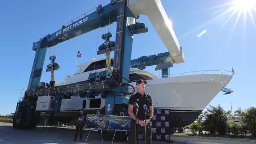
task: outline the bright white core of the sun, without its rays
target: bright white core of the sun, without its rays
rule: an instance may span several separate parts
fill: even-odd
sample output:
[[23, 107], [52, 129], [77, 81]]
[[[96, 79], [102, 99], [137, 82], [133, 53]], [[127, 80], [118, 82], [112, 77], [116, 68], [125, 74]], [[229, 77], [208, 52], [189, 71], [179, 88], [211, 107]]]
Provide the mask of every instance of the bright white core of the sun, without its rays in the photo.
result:
[[242, 11], [250, 11], [256, 9], [256, 0], [234, 0], [234, 7]]

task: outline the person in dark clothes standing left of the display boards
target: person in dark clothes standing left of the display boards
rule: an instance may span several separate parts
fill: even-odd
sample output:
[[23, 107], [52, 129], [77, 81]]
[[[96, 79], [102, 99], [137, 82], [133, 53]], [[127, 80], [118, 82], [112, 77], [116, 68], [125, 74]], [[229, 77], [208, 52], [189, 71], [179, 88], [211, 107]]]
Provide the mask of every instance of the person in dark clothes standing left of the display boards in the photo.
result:
[[83, 113], [83, 109], [79, 109], [80, 113], [76, 116], [76, 134], [73, 141], [76, 140], [78, 130], [80, 129], [80, 141], [82, 141], [83, 127], [85, 125], [85, 114]]

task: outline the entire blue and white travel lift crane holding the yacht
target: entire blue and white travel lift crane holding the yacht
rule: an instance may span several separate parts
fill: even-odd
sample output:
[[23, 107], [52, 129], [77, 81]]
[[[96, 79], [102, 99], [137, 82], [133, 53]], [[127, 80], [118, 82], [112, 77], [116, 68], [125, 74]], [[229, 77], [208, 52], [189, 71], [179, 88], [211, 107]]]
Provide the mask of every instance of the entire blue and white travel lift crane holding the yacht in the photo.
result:
[[[141, 5], [145, 7], [141, 8]], [[141, 11], [143, 8], [144, 10]], [[157, 12], [152, 13], [152, 11]], [[148, 16], [169, 52], [131, 60], [133, 35], [147, 32], [145, 24], [136, 22], [141, 14]], [[161, 2], [155, 0], [111, 0], [110, 4], [104, 7], [99, 5], [93, 13], [84, 15], [83, 18], [75, 22], [72, 21], [71, 24], [62, 26], [60, 30], [33, 42], [32, 50], [35, 51], [35, 58], [28, 89], [24, 98], [17, 103], [13, 127], [15, 129], [33, 129], [37, 126], [41, 114], [41, 111], [36, 110], [37, 105], [40, 104], [37, 101], [46, 95], [54, 96], [50, 99], [53, 107], [48, 110], [48, 113], [59, 113], [62, 99], [74, 95], [93, 98], [101, 94], [102, 98], [105, 98], [105, 114], [119, 114], [120, 111], [115, 111], [115, 108], [121, 107], [122, 109], [123, 106], [128, 105], [129, 99], [126, 95], [130, 94], [128, 92], [130, 67], [144, 69], [145, 66], [157, 65], [156, 70], [162, 69], [162, 75], [168, 75], [169, 68], [174, 63], [184, 62], [184, 54], [172, 27], [167, 25], [168, 20]], [[52, 56], [50, 57], [52, 63], [47, 66], [46, 70], [51, 71], [50, 85], [45, 87], [45, 83], [40, 82], [47, 48], [97, 28], [108, 26], [113, 22], [117, 22], [115, 42], [109, 41], [111, 33], [106, 33], [102, 35], [102, 39], [106, 41], [99, 46], [98, 50], [98, 54], [105, 53], [106, 57], [109, 57], [109, 53], [114, 51], [112, 70], [108, 68], [103, 72], [90, 74], [88, 81], [54, 87], [53, 73], [54, 70], [59, 69], [59, 65], [54, 62], [56, 57]], [[162, 30], [163, 28], [165, 30]]]

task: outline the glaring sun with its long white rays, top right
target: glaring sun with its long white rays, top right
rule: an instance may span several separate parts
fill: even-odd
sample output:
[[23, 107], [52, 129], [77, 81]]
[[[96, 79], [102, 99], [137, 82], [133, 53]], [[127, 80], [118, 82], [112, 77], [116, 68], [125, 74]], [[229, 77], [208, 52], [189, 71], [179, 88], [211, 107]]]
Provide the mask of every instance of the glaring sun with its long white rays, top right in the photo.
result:
[[[226, 24], [233, 18], [235, 18], [235, 21], [233, 22], [233, 26], [231, 26], [232, 32], [230, 34], [230, 38], [228, 39], [228, 43], [235, 31], [235, 28], [237, 26], [237, 23], [239, 22], [239, 18], [243, 17], [243, 29], [244, 29], [244, 33], [246, 31], [246, 25], [247, 25], [247, 16], [250, 17], [250, 20], [256, 30], [256, 20], [254, 19], [255, 13], [256, 13], [256, 0], [225, 0], [225, 1], [229, 1], [227, 3], [223, 3], [221, 5], [218, 6], [213, 6], [213, 7], [209, 7], [206, 9], [202, 9], [200, 11], [197, 11], [195, 13], [201, 13], [204, 11], [211, 11], [211, 10], [215, 10], [212, 14], [215, 13], [219, 13], [219, 15], [216, 15], [213, 18], [210, 18], [210, 20], [204, 22], [202, 25], [198, 26], [197, 28], [185, 33], [184, 35], [182, 35], [181, 37], [178, 37], [178, 39], [181, 39], [183, 37], [186, 37], [187, 35], [193, 33], [194, 31], [200, 30], [202, 28], [205, 28], [206, 26], [209, 26], [210, 24], [213, 24], [214, 22], [216, 22], [216, 20], [219, 19], [224, 19], [222, 24], [220, 24], [220, 28], [217, 29], [215, 31], [215, 33], [213, 34], [213, 37], [215, 37], [215, 35], [217, 35], [217, 33], [219, 33], [219, 31], [221, 31], [224, 26], [226, 26]], [[226, 9], [226, 10], [224, 10]], [[226, 17], [226, 18], [223, 18]], [[197, 37], [202, 36], [204, 33], [206, 32], [206, 29], [204, 31], [202, 31], [201, 33], [199, 33], [197, 35]], [[244, 34], [245, 37], [245, 34]], [[245, 38], [244, 38], [245, 39]]]

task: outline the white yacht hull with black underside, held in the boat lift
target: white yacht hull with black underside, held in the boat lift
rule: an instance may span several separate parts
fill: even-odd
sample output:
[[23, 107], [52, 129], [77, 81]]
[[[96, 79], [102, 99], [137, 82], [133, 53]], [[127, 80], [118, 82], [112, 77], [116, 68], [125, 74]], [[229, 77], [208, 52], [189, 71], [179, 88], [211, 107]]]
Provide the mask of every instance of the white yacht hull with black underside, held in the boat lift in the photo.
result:
[[[231, 78], [232, 76], [225, 74], [197, 74], [149, 79], [145, 92], [152, 97], [155, 110], [169, 110], [171, 127], [181, 127], [194, 122]], [[135, 82], [130, 84], [136, 86]], [[105, 100], [101, 99], [99, 104], [98, 108], [90, 108], [89, 100], [72, 96], [70, 99], [62, 100], [61, 113], [55, 116], [71, 120], [81, 107], [86, 113], [96, 113], [104, 107]]]

